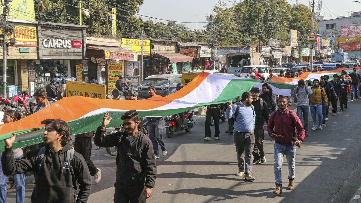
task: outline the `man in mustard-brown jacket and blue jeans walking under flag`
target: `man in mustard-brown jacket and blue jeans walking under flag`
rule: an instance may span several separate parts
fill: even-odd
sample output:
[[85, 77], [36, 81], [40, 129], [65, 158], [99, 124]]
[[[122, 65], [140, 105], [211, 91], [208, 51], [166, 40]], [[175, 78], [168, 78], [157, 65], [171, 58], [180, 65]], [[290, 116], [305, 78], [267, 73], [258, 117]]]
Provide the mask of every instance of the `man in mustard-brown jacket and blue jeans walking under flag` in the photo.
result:
[[318, 117], [318, 128], [322, 129], [322, 100], [325, 101], [325, 105], [329, 104], [325, 90], [319, 86], [319, 80], [313, 80], [313, 87], [311, 87], [312, 94], [310, 95], [310, 111], [312, 116], [313, 128], [317, 130], [317, 117]]

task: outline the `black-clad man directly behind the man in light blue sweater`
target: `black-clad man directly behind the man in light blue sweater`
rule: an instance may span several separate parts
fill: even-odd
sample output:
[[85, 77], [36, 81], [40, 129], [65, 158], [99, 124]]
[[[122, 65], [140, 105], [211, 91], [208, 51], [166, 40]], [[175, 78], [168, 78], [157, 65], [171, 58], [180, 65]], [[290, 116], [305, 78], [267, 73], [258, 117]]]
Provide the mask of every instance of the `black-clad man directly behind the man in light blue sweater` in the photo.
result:
[[265, 151], [263, 149], [262, 138], [265, 134], [265, 121], [268, 122], [270, 117], [268, 112], [267, 103], [259, 98], [260, 89], [258, 87], [253, 87], [251, 89], [252, 95], [252, 105], [255, 108], [256, 120], [255, 120], [255, 129], [253, 133], [255, 134], [255, 146], [253, 147], [253, 163], [254, 164], [264, 164], [266, 163]]

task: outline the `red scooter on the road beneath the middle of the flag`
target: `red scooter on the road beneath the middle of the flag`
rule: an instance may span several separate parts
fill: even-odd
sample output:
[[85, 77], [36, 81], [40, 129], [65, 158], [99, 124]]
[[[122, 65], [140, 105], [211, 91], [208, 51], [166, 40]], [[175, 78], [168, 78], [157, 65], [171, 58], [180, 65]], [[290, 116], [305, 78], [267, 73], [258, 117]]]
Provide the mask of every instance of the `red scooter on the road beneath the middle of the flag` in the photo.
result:
[[181, 125], [181, 116], [178, 114], [165, 116], [165, 134], [168, 138], [172, 138], [174, 132], [185, 130], [186, 132], [196, 126], [195, 119], [193, 119], [194, 109], [190, 109], [184, 113], [183, 127]]

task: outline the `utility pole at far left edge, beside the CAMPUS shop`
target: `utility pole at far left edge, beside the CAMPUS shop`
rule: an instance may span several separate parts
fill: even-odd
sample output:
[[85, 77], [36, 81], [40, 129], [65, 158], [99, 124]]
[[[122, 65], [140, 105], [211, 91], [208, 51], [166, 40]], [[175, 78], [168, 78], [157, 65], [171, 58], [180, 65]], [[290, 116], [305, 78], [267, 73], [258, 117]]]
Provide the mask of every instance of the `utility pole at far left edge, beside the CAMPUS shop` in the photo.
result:
[[8, 33], [8, 3], [4, 1], [4, 12], [3, 12], [3, 97], [6, 98], [6, 36]]

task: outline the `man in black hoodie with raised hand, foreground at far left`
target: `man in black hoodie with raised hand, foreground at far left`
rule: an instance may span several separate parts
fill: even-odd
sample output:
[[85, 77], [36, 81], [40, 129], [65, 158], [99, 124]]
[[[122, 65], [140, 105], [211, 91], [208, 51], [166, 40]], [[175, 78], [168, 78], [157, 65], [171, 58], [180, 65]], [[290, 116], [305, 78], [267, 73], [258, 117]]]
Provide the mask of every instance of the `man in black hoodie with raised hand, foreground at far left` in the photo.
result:
[[[14, 160], [12, 146], [16, 133], [5, 139], [5, 150], [1, 163], [5, 175], [14, 175], [32, 170], [36, 185], [31, 194], [31, 202], [85, 203], [90, 195], [91, 179], [89, 169], [82, 155], [74, 152], [73, 159], [68, 163], [66, 152], [70, 147], [70, 129], [60, 119], [46, 119], [40, 124], [45, 125], [43, 140], [45, 152], [39, 160], [39, 151], [31, 150], [24, 157]], [[72, 167], [69, 167], [69, 164]], [[78, 196], [75, 195], [73, 176], [79, 183]]]

